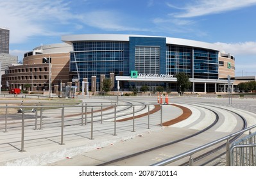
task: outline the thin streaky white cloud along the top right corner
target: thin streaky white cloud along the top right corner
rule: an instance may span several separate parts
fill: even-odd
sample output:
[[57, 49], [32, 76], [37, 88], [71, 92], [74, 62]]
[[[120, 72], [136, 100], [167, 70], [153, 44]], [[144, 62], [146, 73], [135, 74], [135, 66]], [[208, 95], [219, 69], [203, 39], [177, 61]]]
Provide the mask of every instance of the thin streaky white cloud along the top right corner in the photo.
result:
[[185, 10], [182, 13], [171, 14], [176, 18], [198, 17], [213, 13], [222, 13], [230, 10], [244, 8], [256, 4], [256, 0], [200, 0], [193, 1], [191, 4], [186, 4], [183, 8], [178, 8], [172, 4], [167, 4], [171, 8]]

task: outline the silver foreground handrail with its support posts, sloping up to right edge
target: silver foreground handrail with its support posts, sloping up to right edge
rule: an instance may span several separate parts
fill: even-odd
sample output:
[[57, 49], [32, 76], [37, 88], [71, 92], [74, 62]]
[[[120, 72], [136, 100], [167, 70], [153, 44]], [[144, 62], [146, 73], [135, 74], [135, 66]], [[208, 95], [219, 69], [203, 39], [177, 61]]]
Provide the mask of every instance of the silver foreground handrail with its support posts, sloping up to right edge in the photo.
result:
[[[189, 150], [188, 152], [181, 153], [179, 155], [176, 155], [175, 157], [171, 157], [169, 159], [162, 160], [162, 161], [157, 162], [157, 163], [155, 163], [151, 166], [166, 166], [166, 165], [171, 164], [173, 162], [176, 162], [178, 160], [182, 160], [185, 157], [189, 158], [189, 160], [188, 160], [189, 166], [194, 166], [194, 158], [195, 158], [195, 157], [193, 157], [194, 155], [202, 152], [203, 150], [210, 149], [210, 147], [212, 147], [216, 144], [222, 144], [222, 143], [226, 143], [226, 165], [230, 166], [230, 153], [228, 152], [230, 150], [230, 139], [232, 139], [232, 137], [235, 137], [239, 134], [243, 134], [246, 131], [250, 132], [253, 128], [256, 128], [256, 125], [248, 127], [248, 128], [246, 128], [244, 130], [241, 130], [239, 132], [235, 132], [234, 134], [230, 134], [228, 136], [222, 137], [221, 139], [218, 139], [218, 140], [213, 141], [211, 143], [207, 143], [207, 144], [205, 144], [203, 146], [200, 146], [198, 148]], [[244, 147], [252, 147], [252, 146], [244, 146]]]

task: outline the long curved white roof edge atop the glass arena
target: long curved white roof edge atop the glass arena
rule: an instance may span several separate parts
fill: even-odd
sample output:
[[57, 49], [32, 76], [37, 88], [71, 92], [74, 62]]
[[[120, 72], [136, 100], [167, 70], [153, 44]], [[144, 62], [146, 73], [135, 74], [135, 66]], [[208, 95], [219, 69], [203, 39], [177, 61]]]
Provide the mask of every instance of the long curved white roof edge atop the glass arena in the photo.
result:
[[195, 40], [187, 40], [182, 38], [170, 38], [165, 36], [146, 36], [146, 35], [120, 35], [120, 34], [85, 34], [85, 35], [65, 35], [62, 36], [62, 41], [65, 43], [73, 43], [80, 41], [129, 41], [130, 36], [135, 37], [159, 37], [166, 38], [167, 44], [185, 45], [189, 47], [200, 47], [203, 49], [212, 49], [215, 51], [222, 51], [221, 45], [214, 43], [200, 42]]

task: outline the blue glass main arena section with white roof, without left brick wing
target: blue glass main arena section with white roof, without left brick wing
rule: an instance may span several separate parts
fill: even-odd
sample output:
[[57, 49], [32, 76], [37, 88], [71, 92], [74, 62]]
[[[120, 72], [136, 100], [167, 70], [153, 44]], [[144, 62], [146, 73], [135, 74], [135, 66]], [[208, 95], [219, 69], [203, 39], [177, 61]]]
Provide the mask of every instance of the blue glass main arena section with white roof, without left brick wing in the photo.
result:
[[62, 41], [73, 46], [72, 78], [80, 84], [89, 82], [91, 91], [98, 91], [104, 78], [112, 79], [115, 91], [143, 85], [150, 86], [151, 91], [157, 86], [177, 91], [175, 76], [185, 72], [192, 82], [191, 92], [225, 92], [228, 75], [231, 79], [235, 77], [235, 58], [213, 43], [103, 34], [62, 36]]

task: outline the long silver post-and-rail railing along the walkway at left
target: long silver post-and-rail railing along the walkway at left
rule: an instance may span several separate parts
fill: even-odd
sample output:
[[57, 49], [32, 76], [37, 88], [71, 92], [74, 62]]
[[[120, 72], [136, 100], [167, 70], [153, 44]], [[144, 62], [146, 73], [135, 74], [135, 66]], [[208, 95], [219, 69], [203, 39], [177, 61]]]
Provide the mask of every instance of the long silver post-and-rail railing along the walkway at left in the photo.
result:
[[[159, 126], [159, 123], [160, 123], [160, 126], [162, 126], [162, 105], [160, 105], [160, 114], [156, 114], [157, 118], [154, 119], [155, 123], [151, 123], [151, 121], [153, 119], [151, 119], [151, 117], [150, 117], [150, 120], [151, 120], [150, 121], [149, 116], [150, 116], [150, 107], [155, 107], [155, 105], [153, 105], [153, 104], [117, 105], [116, 103], [113, 104], [112, 102], [105, 102], [105, 103], [99, 102], [98, 104], [96, 104], [96, 102], [93, 102], [92, 104], [83, 103], [80, 105], [62, 104], [61, 106], [58, 106], [58, 108], [53, 107], [52, 105], [42, 105], [42, 104], [27, 105], [27, 106], [24, 106], [24, 105], [10, 106], [10, 105], [6, 104], [5, 106], [0, 106], [0, 109], [5, 110], [5, 114], [0, 115], [1, 118], [4, 117], [4, 128], [0, 128], [0, 130], [4, 129], [4, 132], [9, 132], [8, 130], [10, 128], [14, 128], [13, 121], [9, 122], [10, 114], [8, 114], [8, 110], [20, 109], [21, 120], [19, 117], [17, 117], [17, 114], [15, 114], [16, 120], [18, 121], [17, 123], [15, 123], [15, 128], [21, 128], [21, 141], [20, 141], [21, 142], [21, 150], [20, 150], [20, 152], [25, 152], [24, 141], [26, 141], [25, 140], [26, 131], [31, 132], [31, 127], [33, 127], [33, 126], [35, 127], [35, 128], [33, 128], [33, 130], [37, 130], [37, 131], [41, 130], [43, 127], [47, 128], [47, 123], [44, 122], [45, 121], [44, 118], [51, 118], [51, 122], [56, 123], [54, 125], [54, 127], [61, 128], [60, 133], [59, 133], [59, 136], [60, 136], [59, 144], [62, 145], [62, 144], [64, 144], [64, 136], [65, 136], [64, 129], [65, 129], [65, 127], [67, 127], [67, 125], [73, 125], [73, 126], [74, 125], [80, 125], [80, 126], [87, 125], [87, 126], [89, 126], [88, 123], [90, 123], [90, 127], [87, 127], [87, 130], [90, 128], [89, 129], [90, 130], [89, 139], [94, 139], [94, 132], [96, 130], [94, 128], [95, 119], [97, 118], [97, 121], [100, 121], [100, 123], [102, 124], [103, 116], [104, 116], [103, 111], [109, 111], [108, 118], [112, 118], [112, 122], [114, 124], [112, 125], [112, 127], [108, 128], [108, 129], [113, 130], [112, 135], [117, 136], [117, 117], [119, 117], [119, 116], [117, 116], [117, 107], [119, 107], [119, 108], [120, 107], [132, 107], [132, 113], [124, 112], [124, 113], [129, 113], [128, 115], [132, 115], [132, 130], [131, 130], [131, 132], [135, 132], [135, 126], [136, 126], [135, 113], [137, 113], [138, 111], [135, 111], [135, 107], [137, 107], [137, 108], [143, 107], [143, 109], [144, 109], [143, 113], [145, 116], [144, 123], [145, 123], [145, 121], [148, 121], [148, 124], [147, 124], [148, 128], [150, 125], [151, 126], [152, 125]], [[32, 108], [34, 109], [33, 111], [26, 110], [26, 109], [32, 109]], [[46, 109], [46, 110], [44, 110], [44, 109]], [[113, 109], [114, 109], [114, 113], [112, 111]], [[4, 110], [2, 110], [2, 111], [4, 111]], [[49, 112], [49, 111], [51, 111], [51, 112]], [[131, 109], [130, 109], [130, 111], [131, 111]], [[33, 114], [33, 113], [35, 113], [35, 114]], [[60, 115], [56, 116], [57, 113]], [[96, 113], [98, 114], [97, 117], [96, 117]], [[55, 116], [51, 117], [51, 114], [53, 114]], [[148, 116], [148, 118], [147, 118], [147, 116]], [[29, 119], [26, 119], [26, 118], [29, 118]], [[71, 120], [70, 118], [75, 118], [75, 120]], [[38, 119], [39, 119], [39, 124], [38, 124]], [[26, 123], [29, 123], [29, 125]], [[38, 128], [38, 125], [39, 125], [39, 128]], [[0, 124], [0, 126], [1, 126], [1, 124]], [[3, 123], [2, 123], [2, 126], [3, 126]], [[51, 125], [51, 127], [53, 127], [53, 125]], [[141, 128], [141, 126], [139, 128]], [[97, 130], [99, 131], [101, 129], [97, 128]], [[74, 131], [74, 134], [75, 133], [76, 133], [76, 131]], [[70, 135], [70, 134], [68, 134], [68, 135]], [[0, 136], [1, 136], [1, 134], [0, 134]], [[1, 143], [0, 143], [0, 145], [1, 145]]]

